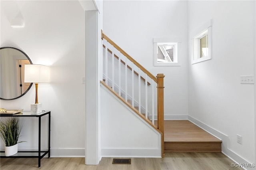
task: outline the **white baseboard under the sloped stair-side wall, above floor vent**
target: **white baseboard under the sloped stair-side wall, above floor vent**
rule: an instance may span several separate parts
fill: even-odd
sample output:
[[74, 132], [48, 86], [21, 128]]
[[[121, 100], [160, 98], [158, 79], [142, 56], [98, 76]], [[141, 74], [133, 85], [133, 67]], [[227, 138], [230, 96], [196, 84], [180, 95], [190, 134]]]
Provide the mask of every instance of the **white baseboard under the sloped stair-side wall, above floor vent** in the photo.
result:
[[102, 157], [162, 158], [161, 149], [102, 148]]

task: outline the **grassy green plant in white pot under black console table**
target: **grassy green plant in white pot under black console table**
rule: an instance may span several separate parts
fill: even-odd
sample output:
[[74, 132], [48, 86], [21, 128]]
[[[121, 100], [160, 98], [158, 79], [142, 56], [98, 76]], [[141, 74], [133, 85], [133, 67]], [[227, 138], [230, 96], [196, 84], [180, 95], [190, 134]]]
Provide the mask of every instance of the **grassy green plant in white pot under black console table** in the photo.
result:
[[12, 156], [18, 152], [18, 143], [20, 143], [18, 139], [22, 126], [18, 117], [8, 117], [0, 121], [0, 136], [5, 143], [5, 156]]

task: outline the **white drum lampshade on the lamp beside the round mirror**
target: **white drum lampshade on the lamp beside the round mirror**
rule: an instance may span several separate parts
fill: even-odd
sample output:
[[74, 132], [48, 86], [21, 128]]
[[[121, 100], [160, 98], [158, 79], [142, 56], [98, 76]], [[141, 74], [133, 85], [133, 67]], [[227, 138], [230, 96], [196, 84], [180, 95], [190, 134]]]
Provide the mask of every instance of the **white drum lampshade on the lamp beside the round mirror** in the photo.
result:
[[25, 83], [48, 83], [49, 72], [48, 66], [40, 64], [25, 64]]

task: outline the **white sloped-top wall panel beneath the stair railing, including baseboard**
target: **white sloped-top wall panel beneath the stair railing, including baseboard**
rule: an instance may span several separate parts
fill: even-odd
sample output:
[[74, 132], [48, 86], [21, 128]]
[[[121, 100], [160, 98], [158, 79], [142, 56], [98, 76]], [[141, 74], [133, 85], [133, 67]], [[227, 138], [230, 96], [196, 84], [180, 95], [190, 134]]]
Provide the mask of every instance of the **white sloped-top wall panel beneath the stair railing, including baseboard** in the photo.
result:
[[108, 89], [100, 90], [102, 157], [161, 158], [161, 134]]

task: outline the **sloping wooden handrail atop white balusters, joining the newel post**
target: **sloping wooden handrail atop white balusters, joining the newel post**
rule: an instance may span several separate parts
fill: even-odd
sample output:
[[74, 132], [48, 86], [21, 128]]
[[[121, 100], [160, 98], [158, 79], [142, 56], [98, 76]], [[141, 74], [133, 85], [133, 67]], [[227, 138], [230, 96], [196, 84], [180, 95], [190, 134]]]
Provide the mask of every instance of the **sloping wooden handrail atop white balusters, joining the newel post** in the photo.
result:
[[118, 51], [120, 51], [124, 56], [126, 56], [130, 61], [132, 61], [137, 67], [139, 67], [144, 73], [148, 75], [151, 79], [153, 79], [156, 83], [158, 83], [158, 79], [152, 75], [148, 70], [146, 70], [140, 63], [138, 63], [135, 59], [133, 59], [128, 53], [126, 53], [122, 48], [120, 48], [116, 43], [114, 43], [108, 36], [106, 36], [103, 32], [101, 32], [101, 38], [104, 38], [109, 42], [111, 45], [113, 45]]

